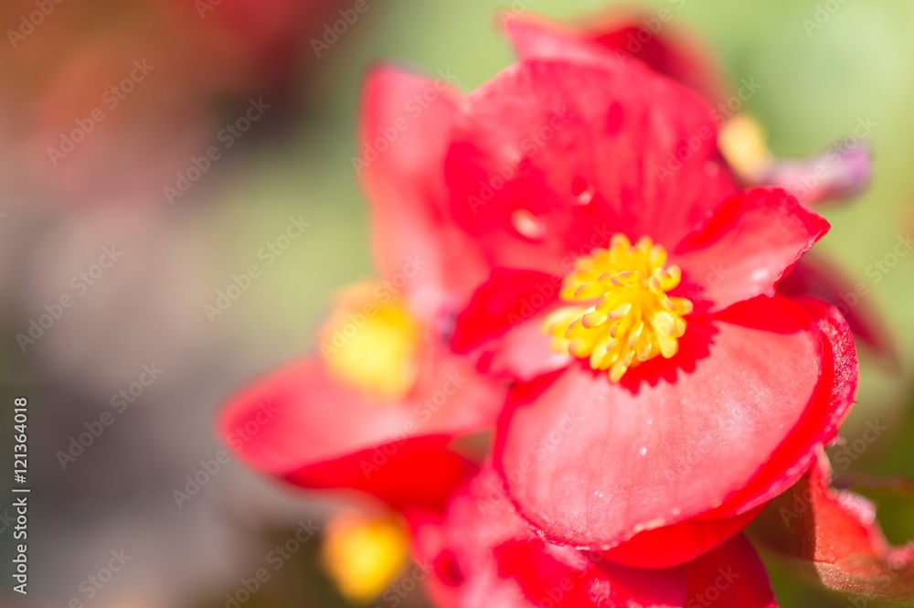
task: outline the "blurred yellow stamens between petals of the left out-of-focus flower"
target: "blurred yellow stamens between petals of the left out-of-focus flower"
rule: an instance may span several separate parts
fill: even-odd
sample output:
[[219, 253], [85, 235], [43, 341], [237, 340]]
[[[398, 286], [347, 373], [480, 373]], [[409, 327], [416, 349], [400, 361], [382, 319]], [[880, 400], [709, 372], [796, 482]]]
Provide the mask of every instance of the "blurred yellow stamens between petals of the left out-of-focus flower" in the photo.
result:
[[350, 288], [321, 331], [321, 354], [335, 379], [384, 399], [400, 399], [419, 373], [421, 328], [407, 304], [380, 284]]

